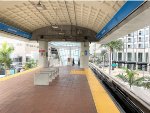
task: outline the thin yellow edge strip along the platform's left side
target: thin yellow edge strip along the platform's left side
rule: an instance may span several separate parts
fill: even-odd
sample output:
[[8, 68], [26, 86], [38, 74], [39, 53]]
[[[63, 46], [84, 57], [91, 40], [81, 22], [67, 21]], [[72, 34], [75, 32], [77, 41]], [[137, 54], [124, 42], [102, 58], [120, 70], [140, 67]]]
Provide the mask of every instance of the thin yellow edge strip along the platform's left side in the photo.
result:
[[29, 69], [29, 70], [26, 70], [26, 71], [23, 71], [23, 72], [20, 72], [20, 73], [16, 73], [16, 74], [13, 74], [13, 75], [9, 75], [9, 76], [0, 78], [0, 81], [5, 81], [5, 80], [8, 80], [8, 79], [17, 77], [17, 76], [21, 76], [21, 75], [23, 75], [23, 74], [27, 74], [27, 73], [29, 73], [29, 72], [35, 71], [35, 70], [40, 69], [40, 68], [41, 68], [41, 67], [36, 67], [36, 68], [32, 68], [32, 69]]

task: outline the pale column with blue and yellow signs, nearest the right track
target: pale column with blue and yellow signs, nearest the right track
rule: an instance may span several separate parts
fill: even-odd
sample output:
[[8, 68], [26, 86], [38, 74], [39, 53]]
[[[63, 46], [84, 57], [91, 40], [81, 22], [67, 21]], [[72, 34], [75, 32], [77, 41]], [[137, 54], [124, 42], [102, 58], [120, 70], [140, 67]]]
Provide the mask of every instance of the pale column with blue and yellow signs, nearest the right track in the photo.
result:
[[87, 68], [89, 64], [89, 42], [81, 42], [80, 68]]

